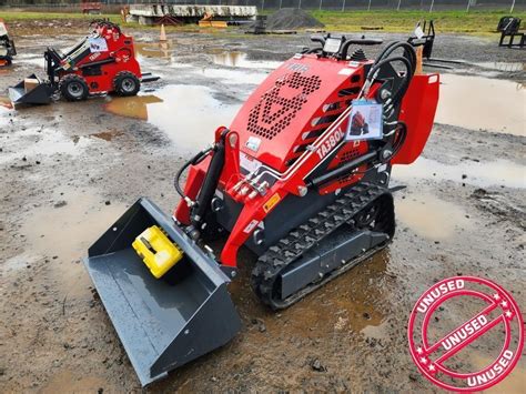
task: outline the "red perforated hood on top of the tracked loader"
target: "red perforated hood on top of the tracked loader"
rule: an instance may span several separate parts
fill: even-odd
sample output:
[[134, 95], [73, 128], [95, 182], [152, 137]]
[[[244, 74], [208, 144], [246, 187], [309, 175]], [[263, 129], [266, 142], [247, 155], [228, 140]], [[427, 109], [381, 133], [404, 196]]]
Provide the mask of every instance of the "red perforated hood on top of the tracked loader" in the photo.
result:
[[[355, 73], [361, 78], [351, 82]], [[300, 155], [297, 147], [305, 145], [304, 134], [324, 129], [326, 117], [344, 109], [331, 110], [326, 104], [355, 97], [363, 84], [362, 74], [363, 63], [315, 54], [290, 59], [252, 93], [232, 122], [230, 129], [240, 133], [241, 151], [277, 171], [286, 170], [287, 161]], [[338, 95], [352, 85], [356, 88], [343, 92], [348, 93], [346, 98]], [[256, 151], [246, 147], [251, 137], [261, 141]]]

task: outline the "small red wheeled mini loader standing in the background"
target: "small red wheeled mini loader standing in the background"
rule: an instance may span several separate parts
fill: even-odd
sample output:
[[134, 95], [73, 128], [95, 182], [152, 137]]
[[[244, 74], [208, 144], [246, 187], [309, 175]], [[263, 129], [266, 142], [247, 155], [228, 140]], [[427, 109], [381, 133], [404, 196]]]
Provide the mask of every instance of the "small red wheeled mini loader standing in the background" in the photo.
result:
[[122, 33], [118, 24], [97, 20], [91, 27], [92, 33], [67, 52], [48, 48], [44, 52], [48, 80], [31, 74], [9, 88], [13, 104], [49, 104], [60, 95], [68, 101], [101, 93], [135, 95], [141, 83], [159, 79], [141, 73], [133, 39]]

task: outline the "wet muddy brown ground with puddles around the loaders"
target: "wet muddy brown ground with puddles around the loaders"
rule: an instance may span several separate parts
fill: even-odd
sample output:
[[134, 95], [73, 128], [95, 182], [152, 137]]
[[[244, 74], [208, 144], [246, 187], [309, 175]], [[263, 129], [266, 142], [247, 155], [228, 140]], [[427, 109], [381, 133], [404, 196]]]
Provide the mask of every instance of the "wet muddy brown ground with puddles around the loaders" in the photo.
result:
[[[0, 95], [33, 70], [43, 75], [45, 46], [80, 37], [29, 36], [22, 24], [13, 32], [20, 55], [0, 71]], [[138, 196], [170, 212], [176, 169], [279, 61], [308, 44], [306, 34], [186, 32], [160, 46], [153, 32], [133, 33], [143, 69], [162, 77], [140, 98], [0, 107], [1, 392], [141, 391], [81, 257]], [[438, 58], [477, 63], [444, 75], [444, 95], [458, 98], [459, 83], [472, 100], [441, 102], [423, 158], [394, 170], [393, 184], [407, 189], [396, 193], [388, 249], [281, 313], [251, 292], [254, 257], [243, 252], [230, 289], [241, 333], [146, 392], [434, 392], [407, 348], [419, 294], [438, 280], [475, 275], [526, 307], [524, 52], [473, 37], [441, 36], [435, 47]], [[436, 332], [468, 309], [441, 311]], [[456, 367], [485, 366], [499, 341], [473, 345]], [[525, 367], [523, 357], [497, 391], [524, 392]]]

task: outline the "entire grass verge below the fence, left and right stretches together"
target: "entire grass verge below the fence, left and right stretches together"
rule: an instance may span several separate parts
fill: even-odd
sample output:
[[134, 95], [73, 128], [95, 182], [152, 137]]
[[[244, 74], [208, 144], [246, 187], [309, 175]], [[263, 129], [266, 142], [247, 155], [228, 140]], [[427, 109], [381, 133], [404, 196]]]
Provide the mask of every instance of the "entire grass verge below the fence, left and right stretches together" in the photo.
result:
[[[382, 27], [383, 31], [412, 32], [418, 20], [433, 19], [437, 33], [456, 32], [486, 36], [495, 32], [500, 17], [508, 14], [502, 11], [312, 11], [312, 14], [325, 24], [327, 31], [363, 31], [362, 27]], [[8, 23], [24, 20], [92, 20], [99, 16], [84, 16], [82, 13], [60, 12], [20, 12], [0, 11], [0, 18]], [[112, 22], [128, 28], [144, 28], [138, 23], [122, 23], [119, 14], [101, 16], [110, 18]], [[515, 17], [526, 20], [526, 12], [515, 12]], [[159, 29], [158, 27], [153, 27]], [[181, 28], [168, 28], [168, 30], [180, 30]], [[194, 30], [195, 26], [186, 26], [182, 29]]]

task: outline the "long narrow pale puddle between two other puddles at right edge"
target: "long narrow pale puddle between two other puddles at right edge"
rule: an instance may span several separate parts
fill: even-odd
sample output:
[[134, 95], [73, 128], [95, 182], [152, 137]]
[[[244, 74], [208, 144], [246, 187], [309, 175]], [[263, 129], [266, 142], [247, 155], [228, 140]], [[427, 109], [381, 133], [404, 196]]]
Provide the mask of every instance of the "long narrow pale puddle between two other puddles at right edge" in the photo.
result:
[[[463, 179], [463, 175], [466, 175]], [[508, 160], [490, 162], [463, 161], [448, 165], [435, 160], [419, 156], [411, 165], [395, 165], [393, 179], [411, 182], [414, 179], [433, 179], [454, 181], [486, 188], [504, 185], [506, 188], [526, 188], [526, 170]]]

